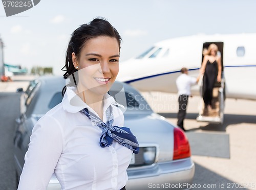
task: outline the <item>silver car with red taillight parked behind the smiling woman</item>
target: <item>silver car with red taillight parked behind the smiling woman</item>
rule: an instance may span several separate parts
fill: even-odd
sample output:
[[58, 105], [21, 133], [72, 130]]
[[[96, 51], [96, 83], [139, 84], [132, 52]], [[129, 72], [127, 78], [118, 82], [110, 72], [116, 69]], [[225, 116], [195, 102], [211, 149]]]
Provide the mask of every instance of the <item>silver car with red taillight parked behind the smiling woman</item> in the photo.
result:
[[[41, 77], [33, 80], [20, 96], [21, 114], [16, 119], [14, 135], [17, 180], [22, 172], [32, 128], [42, 115], [61, 102], [64, 85], [62, 77]], [[109, 93], [125, 105], [124, 126], [131, 128], [140, 144], [139, 154], [133, 154], [127, 169], [129, 181], [126, 189], [160, 189], [160, 185], [163, 189], [167, 186], [186, 189], [186, 185], [192, 183], [195, 165], [185, 133], [154, 113], [133, 87], [115, 82]], [[180, 184], [183, 184], [182, 188]], [[60, 189], [54, 174], [48, 189]]]

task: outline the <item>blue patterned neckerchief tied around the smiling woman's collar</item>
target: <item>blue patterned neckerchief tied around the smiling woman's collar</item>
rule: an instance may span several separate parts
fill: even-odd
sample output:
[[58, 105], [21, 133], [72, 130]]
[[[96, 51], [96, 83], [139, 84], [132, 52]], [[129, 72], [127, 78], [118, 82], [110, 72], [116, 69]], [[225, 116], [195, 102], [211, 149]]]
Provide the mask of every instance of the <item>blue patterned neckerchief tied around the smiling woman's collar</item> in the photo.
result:
[[112, 126], [114, 116], [111, 105], [106, 109], [106, 123], [104, 123], [95, 114], [91, 112], [89, 113], [88, 108], [83, 108], [80, 112], [86, 115], [93, 123], [102, 129], [99, 142], [99, 145], [102, 148], [111, 146], [113, 144], [113, 140], [115, 140], [126, 148], [133, 150], [133, 153], [138, 154], [139, 144], [130, 128]]

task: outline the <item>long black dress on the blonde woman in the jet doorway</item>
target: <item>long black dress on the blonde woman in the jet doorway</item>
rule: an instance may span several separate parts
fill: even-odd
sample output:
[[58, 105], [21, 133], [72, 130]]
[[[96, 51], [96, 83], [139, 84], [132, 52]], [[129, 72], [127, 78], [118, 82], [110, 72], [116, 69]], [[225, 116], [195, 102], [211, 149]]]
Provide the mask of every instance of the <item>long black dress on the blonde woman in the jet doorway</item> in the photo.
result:
[[204, 107], [211, 105], [212, 90], [214, 89], [214, 85], [217, 80], [217, 74], [218, 74], [217, 66], [218, 64], [216, 60], [212, 63], [208, 60], [205, 66], [205, 71], [203, 76]]

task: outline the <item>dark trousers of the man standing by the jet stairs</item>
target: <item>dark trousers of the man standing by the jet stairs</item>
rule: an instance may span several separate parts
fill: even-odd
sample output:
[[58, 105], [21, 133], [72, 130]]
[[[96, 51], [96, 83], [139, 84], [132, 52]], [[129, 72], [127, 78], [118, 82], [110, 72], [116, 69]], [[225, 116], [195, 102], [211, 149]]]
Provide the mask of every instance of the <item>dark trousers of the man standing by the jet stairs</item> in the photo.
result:
[[188, 95], [184, 95], [184, 94], [179, 96], [179, 112], [178, 112], [177, 125], [183, 130], [185, 130], [183, 126], [183, 120], [185, 119], [185, 116], [186, 116], [188, 97], [189, 97]]

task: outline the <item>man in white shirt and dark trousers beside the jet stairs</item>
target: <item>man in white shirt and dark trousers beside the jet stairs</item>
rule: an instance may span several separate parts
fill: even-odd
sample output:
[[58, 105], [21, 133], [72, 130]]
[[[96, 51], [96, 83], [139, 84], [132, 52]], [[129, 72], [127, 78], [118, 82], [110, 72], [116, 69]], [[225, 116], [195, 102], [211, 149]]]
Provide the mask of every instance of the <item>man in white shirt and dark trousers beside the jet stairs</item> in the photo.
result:
[[183, 67], [180, 71], [182, 74], [177, 78], [176, 85], [178, 88], [178, 101], [179, 101], [179, 112], [178, 112], [178, 122], [177, 125], [184, 131], [183, 121], [186, 116], [186, 108], [188, 97], [190, 96], [190, 88], [192, 85], [196, 85], [199, 80], [199, 76], [197, 78], [188, 76], [188, 69]]

